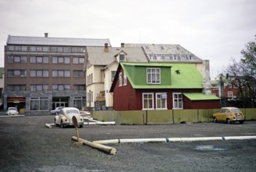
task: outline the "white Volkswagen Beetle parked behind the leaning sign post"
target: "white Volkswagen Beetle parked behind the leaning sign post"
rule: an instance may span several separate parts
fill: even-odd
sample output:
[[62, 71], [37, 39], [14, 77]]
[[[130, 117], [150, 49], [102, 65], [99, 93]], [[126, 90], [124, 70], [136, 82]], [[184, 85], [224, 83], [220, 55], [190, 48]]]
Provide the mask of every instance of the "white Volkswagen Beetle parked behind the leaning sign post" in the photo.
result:
[[80, 111], [74, 107], [65, 107], [61, 109], [58, 115], [54, 118], [54, 124], [59, 127], [74, 126], [72, 117], [75, 116], [78, 120], [78, 126], [83, 127], [84, 119], [80, 115]]

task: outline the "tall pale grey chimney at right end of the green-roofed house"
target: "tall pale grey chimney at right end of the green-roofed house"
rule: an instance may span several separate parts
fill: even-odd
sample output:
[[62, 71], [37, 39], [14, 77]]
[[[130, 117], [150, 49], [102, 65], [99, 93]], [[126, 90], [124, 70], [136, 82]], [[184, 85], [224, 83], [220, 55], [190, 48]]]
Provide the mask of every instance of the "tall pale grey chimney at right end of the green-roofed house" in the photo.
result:
[[210, 63], [209, 60], [203, 60], [203, 93], [211, 95], [211, 81], [210, 81]]

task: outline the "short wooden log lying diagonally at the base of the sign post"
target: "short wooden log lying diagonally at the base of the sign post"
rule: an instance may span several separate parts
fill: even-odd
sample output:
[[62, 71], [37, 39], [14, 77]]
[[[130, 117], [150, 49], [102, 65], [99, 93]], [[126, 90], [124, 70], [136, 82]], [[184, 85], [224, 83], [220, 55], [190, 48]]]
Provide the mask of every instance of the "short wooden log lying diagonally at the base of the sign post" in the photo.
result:
[[[78, 141], [78, 138], [75, 137], [75, 136], [72, 136], [71, 139], [74, 140], [74, 141]], [[106, 152], [106, 153], [108, 153], [110, 155], [114, 155], [114, 154], [117, 153], [117, 149], [114, 149], [114, 148], [112, 148], [110, 146], [100, 145], [99, 143], [89, 142], [89, 141], [87, 141], [85, 139], [82, 139], [82, 138], [79, 138], [79, 141], [83, 142], [85, 145], [88, 145], [88, 146], [90, 146], [90, 147], [92, 147], [94, 149], [98, 149], [100, 151]]]

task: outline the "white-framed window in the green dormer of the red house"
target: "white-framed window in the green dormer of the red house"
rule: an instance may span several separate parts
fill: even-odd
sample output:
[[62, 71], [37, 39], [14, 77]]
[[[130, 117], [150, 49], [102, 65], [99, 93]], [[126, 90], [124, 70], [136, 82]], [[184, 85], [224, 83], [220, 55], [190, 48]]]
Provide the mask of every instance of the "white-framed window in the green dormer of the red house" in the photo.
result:
[[146, 68], [146, 83], [160, 84], [160, 68]]

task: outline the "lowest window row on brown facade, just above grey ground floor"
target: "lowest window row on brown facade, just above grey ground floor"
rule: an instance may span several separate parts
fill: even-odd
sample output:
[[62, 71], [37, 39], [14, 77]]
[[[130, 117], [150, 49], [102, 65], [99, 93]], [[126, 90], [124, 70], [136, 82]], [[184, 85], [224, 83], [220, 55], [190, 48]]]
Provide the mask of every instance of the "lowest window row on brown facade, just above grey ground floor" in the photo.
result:
[[[31, 84], [30, 91], [49, 91], [47, 84]], [[9, 84], [8, 91], [26, 91], [25, 84]], [[52, 84], [52, 91], [70, 91], [69, 84]], [[74, 84], [74, 91], [85, 91], [85, 84]]]

